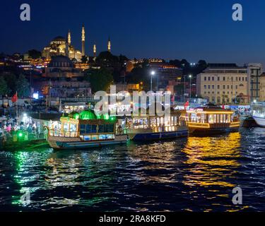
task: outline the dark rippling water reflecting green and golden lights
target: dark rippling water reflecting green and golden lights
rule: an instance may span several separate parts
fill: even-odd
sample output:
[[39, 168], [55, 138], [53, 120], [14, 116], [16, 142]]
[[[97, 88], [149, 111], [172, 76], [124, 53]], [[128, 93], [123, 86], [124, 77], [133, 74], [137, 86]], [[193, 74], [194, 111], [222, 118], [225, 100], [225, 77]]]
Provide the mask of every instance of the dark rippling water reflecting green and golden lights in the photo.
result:
[[[0, 210], [264, 211], [265, 129], [54, 152], [0, 152]], [[232, 204], [240, 185], [243, 205]], [[21, 201], [26, 192], [30, 202]]]

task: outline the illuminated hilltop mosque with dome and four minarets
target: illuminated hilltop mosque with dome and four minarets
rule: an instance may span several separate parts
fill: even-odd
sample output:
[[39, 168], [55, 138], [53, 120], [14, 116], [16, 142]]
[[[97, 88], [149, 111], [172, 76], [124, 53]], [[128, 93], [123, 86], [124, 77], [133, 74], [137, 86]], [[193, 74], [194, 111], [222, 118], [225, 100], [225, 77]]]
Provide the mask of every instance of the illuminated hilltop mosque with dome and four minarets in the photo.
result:
[[[70, 59], [76, 59], [76, 61], [81, 61], [82, 57], [86, 55], [85, 52], [85, 39], [86, 39], [86, 33], [85, 33], [85, 27], [82, 26], [82, 50], [78, 50], [71, 44], [71, 32], [69, 30], [67, 38], [58, 36], [55, 37], [52, 42], [50, 42], [49, 46], [45, 47], [42, 50], [42, 57], [45, 57], [46, 59], [51, 59], [54, 56], [66, 56]], [[110, 38], [107, 42], [107, 50], [110, 52], [111, 50], [111, 43]], [[93, 46], [93, 56], [96, 56], [96, 45]]]

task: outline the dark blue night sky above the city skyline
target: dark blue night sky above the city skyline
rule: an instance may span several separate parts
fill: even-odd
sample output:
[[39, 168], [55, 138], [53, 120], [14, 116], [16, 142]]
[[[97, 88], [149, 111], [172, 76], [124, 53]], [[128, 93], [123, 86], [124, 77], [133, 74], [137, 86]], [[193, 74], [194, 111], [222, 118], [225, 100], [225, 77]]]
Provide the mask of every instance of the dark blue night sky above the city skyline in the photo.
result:
[[[20, 20], [20, 4], [31, 6], [31, 21]], [[243, 6], [243, 21], [232, 20], [232, 4]], [[1, 0], [0, 52], [45, 47], [72, 32], [81, 49], [98, 52], [112, 40], [113, 54], [208, 62], [265, 63], [264, 0]]]

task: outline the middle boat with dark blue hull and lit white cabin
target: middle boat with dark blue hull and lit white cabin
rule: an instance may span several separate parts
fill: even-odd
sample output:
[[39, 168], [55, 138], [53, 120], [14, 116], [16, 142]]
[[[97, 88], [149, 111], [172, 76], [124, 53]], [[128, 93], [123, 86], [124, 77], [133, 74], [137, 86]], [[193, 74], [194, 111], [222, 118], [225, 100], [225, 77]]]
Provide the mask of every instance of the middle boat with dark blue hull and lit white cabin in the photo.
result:
[[159, 141], [181, 138], [189, 135], [186, 121], [181, 119], [181, 113], [171, 112], [170, 116], [134, 116], [126, 118], [126, 129], [132, 141]]

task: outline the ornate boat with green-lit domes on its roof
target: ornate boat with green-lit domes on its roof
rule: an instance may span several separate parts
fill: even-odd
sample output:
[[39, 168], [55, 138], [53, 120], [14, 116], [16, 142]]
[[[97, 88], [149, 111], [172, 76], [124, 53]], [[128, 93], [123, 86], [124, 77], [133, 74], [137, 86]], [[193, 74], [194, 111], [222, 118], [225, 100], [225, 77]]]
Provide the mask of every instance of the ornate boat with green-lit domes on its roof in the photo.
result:
[[126, 143], [128, 136], [116, 117], [97, 117], [93, 110], [73, 112], [52, 122], [47, 141], [54, 149], [86, 149]]

